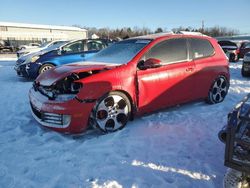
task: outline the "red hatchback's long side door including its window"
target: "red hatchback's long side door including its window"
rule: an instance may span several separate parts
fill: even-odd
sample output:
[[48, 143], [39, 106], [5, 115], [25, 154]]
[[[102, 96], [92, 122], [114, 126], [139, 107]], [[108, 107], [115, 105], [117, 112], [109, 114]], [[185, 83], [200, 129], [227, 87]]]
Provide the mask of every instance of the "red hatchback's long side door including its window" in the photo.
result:
[[192, 96], [195, 66], [189, 61], [187, 39], [168, 39], [143, 57], [161, 61], [161, 67], [137, 70], [138, 106], [142, 113], [184, 102]]

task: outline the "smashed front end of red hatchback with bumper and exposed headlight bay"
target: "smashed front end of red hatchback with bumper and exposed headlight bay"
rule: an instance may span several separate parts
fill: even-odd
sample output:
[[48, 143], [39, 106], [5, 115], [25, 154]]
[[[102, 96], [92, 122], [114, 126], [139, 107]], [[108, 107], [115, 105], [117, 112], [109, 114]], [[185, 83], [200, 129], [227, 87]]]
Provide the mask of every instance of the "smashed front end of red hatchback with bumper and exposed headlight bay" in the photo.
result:
[[[84, 88], [81, 79], [94, 73], [96, 72], [69, 73], [66, 77], [49, 86], [41, 85], [39, 80], [34, 81], [33, 88], [30, 90], [33, 117], [45, 127], [80, 132], [83, 127], [87, 126], [86, 123], [82, 128], [79, 126], [84, 121], [87, 122], [84, 113], [88, 114], [92, 107], [90, 103], [81, 103], [77, 98], [77, 94]], [[78, 111], [78, 109], [82, 109], [82, 111]], [[68, 129], [69, 127], [70, 129]]]

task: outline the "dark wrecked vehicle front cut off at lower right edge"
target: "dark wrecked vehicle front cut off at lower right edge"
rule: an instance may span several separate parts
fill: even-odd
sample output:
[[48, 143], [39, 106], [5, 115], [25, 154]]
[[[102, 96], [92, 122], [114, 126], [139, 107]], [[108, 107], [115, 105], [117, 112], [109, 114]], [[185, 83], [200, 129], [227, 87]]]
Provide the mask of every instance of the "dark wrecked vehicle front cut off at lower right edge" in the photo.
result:
[[225, 165], [250, 174], [250, 96], [245, 97], [228, 116], [228, 125], [220, 134], [225, 141]]

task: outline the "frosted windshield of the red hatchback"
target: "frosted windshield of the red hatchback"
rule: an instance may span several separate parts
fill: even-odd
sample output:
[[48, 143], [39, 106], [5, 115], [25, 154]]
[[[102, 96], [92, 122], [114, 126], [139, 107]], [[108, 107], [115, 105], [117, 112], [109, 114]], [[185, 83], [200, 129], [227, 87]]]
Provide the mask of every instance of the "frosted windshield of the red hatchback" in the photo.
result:
[[152, 40], [148, 39], [128, 39], [117, 42], [101, 50], [94, 56], [88, 58], [88, 61], [105, 62], [114, 64], [128, 63], [135, 55]]

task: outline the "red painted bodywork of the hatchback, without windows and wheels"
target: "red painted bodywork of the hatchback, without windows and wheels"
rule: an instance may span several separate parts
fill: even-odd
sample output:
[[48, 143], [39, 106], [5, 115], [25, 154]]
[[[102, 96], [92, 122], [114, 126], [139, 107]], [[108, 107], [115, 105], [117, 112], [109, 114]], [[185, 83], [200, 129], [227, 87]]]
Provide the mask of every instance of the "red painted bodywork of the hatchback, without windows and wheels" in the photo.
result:
[[[100, 70], [97, 74], [77, 80], [76, 82], [83, 84], [83, 88], [80, 89], [77, 98], [66, 102], [50, 100], [31, 88], [29, 98], [32, 107], [39, 112], [70, 115], [71, 120], [67, 127], [52, 127], [52, 129], [60, 132], [79, 133], [88, 127], [89, 117], [96, 101], [110, 91], [125, 93], [132, 103], [132, 113], [136, 116], [188, 101], [205, 99], [211, 84], [219, 75], [223, 75], [229, 80], [228, 61], [217, 41], [211, 37], [166, 34], [164, 36], [144, 36], [144, 38], [152, 39], [152, 41], [126, 64], [120, 66], [107, 66], [99, 63], [71, 64], [43, 73], [35, 82], [42, 86], [51, 86], [72, 73]], [[214, 53], [209, 57], [189, 59], [158, 68], [146, 70], [137, 68], [138, 62], [153, 46], [176, 38], [208, 40], [214, 48]]]

